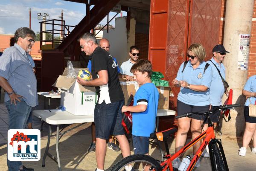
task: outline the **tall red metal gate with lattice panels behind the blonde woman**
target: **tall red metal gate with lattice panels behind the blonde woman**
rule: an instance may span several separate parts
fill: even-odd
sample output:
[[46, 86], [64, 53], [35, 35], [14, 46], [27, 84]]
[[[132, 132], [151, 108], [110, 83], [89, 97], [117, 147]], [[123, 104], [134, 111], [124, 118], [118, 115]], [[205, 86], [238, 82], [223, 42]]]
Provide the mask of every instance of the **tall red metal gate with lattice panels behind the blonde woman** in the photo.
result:
[[[189, 17], [190, 12], [190, 17]], [[173, 97], [170, 109], [176, 110], [177, 94], [172, 80], [183, 61], [190, 43], [201, 43], [212, 57], [218, 43], [221, 0], [151, 0], [148, 59], [154, 71], [168, 80]]]

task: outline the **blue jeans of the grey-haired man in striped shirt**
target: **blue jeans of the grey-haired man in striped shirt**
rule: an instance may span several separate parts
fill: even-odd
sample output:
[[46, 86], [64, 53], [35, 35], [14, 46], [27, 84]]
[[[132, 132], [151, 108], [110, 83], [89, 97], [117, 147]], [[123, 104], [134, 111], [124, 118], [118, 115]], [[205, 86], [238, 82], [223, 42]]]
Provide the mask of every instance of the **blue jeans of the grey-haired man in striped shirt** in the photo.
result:
[[[11, 104], [11, 101], [5, 102], [9, 115], [9, 129], [24, 129], [26, 121], [31, 111], [31, 106], [20, 98], [20, 101], [16, 101], [16, 105]], [[9, 171], [18, 171], [22, 165], [21, 161], [9, 161], [7, 159], [7, 166]]]

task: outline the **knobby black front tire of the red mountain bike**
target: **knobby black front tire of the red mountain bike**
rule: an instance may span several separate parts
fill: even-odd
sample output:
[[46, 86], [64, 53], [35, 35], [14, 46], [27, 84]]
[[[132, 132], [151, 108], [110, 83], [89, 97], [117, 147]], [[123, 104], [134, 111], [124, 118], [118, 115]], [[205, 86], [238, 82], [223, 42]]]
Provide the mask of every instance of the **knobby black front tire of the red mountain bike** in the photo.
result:
[[213, 157], [215, 159], [213, 159], [214, 163], [215, 163], [215, 171], [227, 171], [223, 158], [221, 156], [221, 151], [218, 148], [217, 143], [212, 144], [212, 153], [213, 153]]

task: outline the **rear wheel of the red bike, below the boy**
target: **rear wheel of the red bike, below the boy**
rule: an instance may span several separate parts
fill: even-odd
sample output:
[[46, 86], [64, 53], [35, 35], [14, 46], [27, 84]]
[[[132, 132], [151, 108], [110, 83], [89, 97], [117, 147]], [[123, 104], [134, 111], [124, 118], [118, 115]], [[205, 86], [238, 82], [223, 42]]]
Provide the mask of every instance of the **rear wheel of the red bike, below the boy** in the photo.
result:
[[131, 171], [144, 171], [147, 167], [150, 171], [161, 171], [161, 166], [157, 160], [145, 154], [125, 157], [117, 162], [110, 171], [126, 171], [125, 166], [129, 167]]

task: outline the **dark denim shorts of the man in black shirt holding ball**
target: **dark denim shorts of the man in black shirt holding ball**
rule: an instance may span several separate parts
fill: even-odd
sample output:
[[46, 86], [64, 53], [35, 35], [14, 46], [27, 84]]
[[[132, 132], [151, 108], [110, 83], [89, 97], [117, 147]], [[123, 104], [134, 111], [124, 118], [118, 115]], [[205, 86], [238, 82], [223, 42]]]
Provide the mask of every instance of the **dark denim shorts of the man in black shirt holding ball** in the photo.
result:
[[94, 123], [96, 138], [108, 139], [110, 135], [124, 135], [122, 127], [122, 106], [124, 100], [106, 104], [96, 104], [94, 108]]

